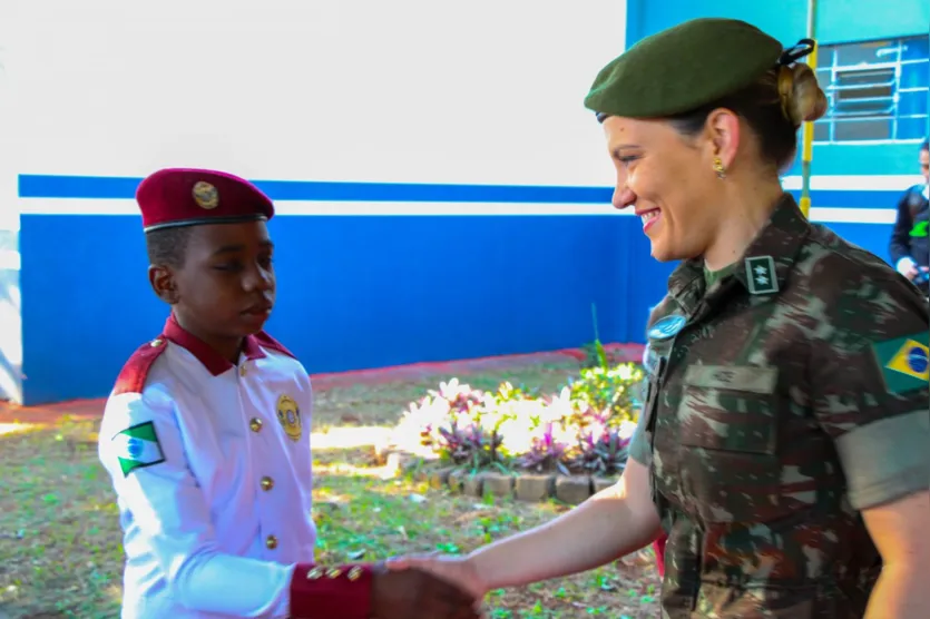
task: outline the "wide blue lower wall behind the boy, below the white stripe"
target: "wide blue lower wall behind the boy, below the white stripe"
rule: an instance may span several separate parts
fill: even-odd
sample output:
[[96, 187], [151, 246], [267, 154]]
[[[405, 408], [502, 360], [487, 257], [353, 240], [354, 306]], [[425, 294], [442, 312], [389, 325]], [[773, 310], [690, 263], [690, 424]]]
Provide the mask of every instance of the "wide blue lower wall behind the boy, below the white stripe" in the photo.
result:
[[[578, 346], [593, 303], [606, 340], [627, 338], [616, 308], [644, 320], [617, 256], [643, 246], [634, 217], [282, 216], [271, 229], [268, 330], [311, 372]], [[167, 314], [138, 218], [25, 215], [20, 250], [27, 404], [105, 395]], [[659, 298], [664, 282], [644, 275]]]

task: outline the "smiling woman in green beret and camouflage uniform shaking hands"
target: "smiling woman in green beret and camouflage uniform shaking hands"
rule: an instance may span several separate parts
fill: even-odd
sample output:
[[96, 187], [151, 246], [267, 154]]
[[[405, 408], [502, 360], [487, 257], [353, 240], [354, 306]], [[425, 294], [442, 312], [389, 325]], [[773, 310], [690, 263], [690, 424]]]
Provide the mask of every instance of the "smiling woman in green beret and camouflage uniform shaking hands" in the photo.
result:
[[608, 563], [664, 532], [664, 617], [930, 617], [928, 313], [780, 186], [826, 101], [735, 20], [649, 37], [586, 106], [659, 261], [648, 397], [620, 481], [467, 557], [410, 557], [477, 596]]

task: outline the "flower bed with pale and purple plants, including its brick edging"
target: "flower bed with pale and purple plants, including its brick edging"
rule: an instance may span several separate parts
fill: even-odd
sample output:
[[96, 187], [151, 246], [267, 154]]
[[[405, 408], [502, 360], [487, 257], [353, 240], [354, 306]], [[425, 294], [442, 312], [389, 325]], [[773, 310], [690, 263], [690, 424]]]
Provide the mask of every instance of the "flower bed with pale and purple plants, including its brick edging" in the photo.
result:
[[600, 360], [555, 394], [441, 383], [411, 403], [390, 451], [435, 485], [580, 502], [624, 470], [640, 404], [639, 366]]

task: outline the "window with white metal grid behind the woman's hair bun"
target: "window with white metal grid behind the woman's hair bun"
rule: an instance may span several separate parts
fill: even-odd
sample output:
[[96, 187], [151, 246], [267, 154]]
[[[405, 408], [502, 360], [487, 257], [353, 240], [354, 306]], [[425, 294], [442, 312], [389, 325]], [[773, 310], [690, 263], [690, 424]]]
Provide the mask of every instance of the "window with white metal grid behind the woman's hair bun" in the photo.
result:
[[818, 80], [830, 108], [814, 124], [814, 141], [905, 141], [927, 136], [927, 35], [819, 47]]

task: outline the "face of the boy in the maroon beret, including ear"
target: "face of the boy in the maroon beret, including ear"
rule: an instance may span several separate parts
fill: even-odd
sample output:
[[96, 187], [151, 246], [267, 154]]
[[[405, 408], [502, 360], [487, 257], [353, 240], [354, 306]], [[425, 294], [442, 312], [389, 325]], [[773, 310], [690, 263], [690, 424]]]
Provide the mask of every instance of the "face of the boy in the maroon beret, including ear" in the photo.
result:
[[272, 253], [264, 222], [194, 226], [183, 266], [153, 266], [149, 279], [182, 326], [216, 346], [257, 333], [268, 320]]

